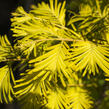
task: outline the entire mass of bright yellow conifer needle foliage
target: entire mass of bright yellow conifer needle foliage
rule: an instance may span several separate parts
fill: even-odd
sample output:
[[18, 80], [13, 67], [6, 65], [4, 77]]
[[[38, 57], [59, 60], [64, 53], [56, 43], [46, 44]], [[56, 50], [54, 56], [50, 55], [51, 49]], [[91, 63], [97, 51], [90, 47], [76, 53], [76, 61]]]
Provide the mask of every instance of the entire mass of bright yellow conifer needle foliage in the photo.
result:
[[[83, 3], [69, 21], [65, 6], [49, 0], [28, 13], [22, 7], [12, 13], [16, 44], [0, 37], [0, 62], [5, 63], [0, 67], [1, 102], [14, 96], [22, 109], [93, 108], [90, 77], [101, 72], [104, 80], [109, 77], [108, 6], [101, 10], [99, 0], [93, 9]], [[14, 61], [20, 69], [27, 67], [16, 81]]]

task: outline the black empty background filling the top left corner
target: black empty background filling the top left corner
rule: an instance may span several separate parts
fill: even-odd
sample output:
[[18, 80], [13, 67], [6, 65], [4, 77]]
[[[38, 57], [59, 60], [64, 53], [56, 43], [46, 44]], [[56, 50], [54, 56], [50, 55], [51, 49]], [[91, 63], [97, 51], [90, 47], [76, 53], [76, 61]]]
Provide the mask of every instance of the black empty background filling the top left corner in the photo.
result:
[[29, 10], [29, 6], [33, 0], [0, 0], [0, 34], [10, 34], [10, 17], [17, 6], [22, 5], [25, 10]]

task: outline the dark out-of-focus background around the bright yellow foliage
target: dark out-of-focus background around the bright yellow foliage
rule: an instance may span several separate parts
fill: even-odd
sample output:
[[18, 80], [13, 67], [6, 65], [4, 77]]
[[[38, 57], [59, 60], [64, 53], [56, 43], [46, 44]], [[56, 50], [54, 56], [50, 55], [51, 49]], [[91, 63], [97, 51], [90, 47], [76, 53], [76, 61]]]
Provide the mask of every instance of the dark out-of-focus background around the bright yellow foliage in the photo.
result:
[[[46, 3], [49, 2], [49, 0], [43, 1]], [[99, 1], [101, 3], [102, 10], [105, 5], [109, 4], [109, 0]], [[40, 2], [42, 2], [42, 0], [0, 0], [0, 34], [7, 34], [12, 42], [12, 32], [10, 31], [11, 22], [9, 20], [11, 18], [11, 13], [15, 11], [17, 6], [23, 6], [26, 11], [29, 11], [31, 4], [37, 5]], [[93, 8], [95, 0], [66, 0], [66, 3], [67, 20], [73, 14], [73, 12], [79, 12], [81, 4], [89, 4]], [[83, 78], [83, 80], [86, 79], [87, 78]], [[88, 80], [85, 82], [89, 82], [88, 89], [92, 91], [92, 96], [95, 101], [93, 109], [109, 109], [109, 82], [104, 81], [102, 72], [100, 72], [99, 75], [92, 76], [90, 81]], [[16, 103], [14, 103], [14, 105], [1, 104], [0, 109], [19, 109], [19, 107], [16, 105]]]

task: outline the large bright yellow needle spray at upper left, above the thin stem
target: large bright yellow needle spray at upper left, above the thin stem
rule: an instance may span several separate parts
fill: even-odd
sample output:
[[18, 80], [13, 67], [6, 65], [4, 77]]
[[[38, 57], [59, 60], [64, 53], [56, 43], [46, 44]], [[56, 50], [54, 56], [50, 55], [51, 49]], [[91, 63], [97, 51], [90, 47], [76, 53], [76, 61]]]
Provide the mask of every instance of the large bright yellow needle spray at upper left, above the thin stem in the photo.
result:
[[[68, 34], [64, 30], [65, 2], [58, 5], [56, 0], [54, 7], [53, 0], [50, 0], [50, 6], [42, 3], [38, 7], [34, 7], [29, 13], [26, 13], [22, 7], [19, 7], [16, 13], [13, 13], [13, 16], [11, 20], [13, 22], [12, 26], [14, 26], [12, 30], [16, 33], [15, 36], [26, 36], [26, 38], [40, 37], [41, 39], [42, 36], [56, 37], [58, 35], [59, 37], [63, 32]], [[62, 34], [63, 37], [65, 36], [64, 33]]]

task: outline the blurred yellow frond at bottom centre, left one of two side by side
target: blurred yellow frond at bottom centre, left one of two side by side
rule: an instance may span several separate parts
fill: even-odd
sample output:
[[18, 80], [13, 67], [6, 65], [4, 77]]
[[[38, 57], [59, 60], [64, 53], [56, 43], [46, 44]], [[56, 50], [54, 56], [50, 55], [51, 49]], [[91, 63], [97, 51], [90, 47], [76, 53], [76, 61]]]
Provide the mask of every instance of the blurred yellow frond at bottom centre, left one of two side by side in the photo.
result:
[[56, 90], [51, 90], [50, 94], [47, 96], [48, 109], [69, 109], [68, 99], [63, 93], [62, 89], [57, 88]]

